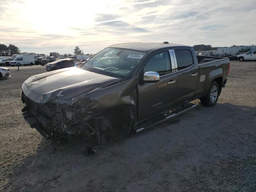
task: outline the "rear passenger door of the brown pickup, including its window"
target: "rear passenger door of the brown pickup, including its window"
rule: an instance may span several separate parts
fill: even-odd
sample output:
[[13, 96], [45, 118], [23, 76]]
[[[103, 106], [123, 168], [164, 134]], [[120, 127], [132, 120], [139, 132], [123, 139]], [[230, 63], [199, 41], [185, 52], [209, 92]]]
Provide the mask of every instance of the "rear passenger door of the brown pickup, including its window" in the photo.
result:
[[[174, 48], [177, 63], [177, 105], [190, 102], [194, 97], [199, 69], [189, 48]], [[175, 57], [174, 57], [175, 58]]]

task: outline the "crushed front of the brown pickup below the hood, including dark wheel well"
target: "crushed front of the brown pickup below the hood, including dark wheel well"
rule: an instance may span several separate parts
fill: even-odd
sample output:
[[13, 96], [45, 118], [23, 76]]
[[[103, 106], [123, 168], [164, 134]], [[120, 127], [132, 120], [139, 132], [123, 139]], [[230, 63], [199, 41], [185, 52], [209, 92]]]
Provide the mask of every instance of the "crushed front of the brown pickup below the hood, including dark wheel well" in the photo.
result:
[[[129, 110], [119, 108], [98, 112], [98, 102], [90, 98], [80, 99], [74, 105], [41, 104], [32, 101], [22, 92], [22, 102], [26, 104], [22, 109], [26, 122], [44, 138], [53, 141], [84, 136], [91, 144], [104, 143], [114, 134], [128, 136], [133, 127], [124, 119], [124, 113], [127, 113], [125, 117], [131, 114]], [[116, 127], [119, 127], [119, 132]]]

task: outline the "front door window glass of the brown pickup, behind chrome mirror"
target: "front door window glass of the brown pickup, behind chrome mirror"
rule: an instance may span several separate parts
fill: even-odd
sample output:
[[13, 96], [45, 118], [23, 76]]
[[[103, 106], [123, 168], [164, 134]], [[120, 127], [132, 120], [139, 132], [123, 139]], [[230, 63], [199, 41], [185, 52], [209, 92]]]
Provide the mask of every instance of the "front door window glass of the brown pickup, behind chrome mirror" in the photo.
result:
[[148, 71], [158, 72], [160, 76], [171, 73], [171, 65], [168, 52], [155, 54], [144, 66], [144, 73]]

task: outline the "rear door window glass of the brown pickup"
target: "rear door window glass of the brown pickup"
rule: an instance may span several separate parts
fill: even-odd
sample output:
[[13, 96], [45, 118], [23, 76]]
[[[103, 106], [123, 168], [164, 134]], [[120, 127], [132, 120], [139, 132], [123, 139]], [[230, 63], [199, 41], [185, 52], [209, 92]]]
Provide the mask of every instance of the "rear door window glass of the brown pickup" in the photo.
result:
[[193, 64], [193, 58], [190, 50], [174, 50], [178, 70], [186, 69]]

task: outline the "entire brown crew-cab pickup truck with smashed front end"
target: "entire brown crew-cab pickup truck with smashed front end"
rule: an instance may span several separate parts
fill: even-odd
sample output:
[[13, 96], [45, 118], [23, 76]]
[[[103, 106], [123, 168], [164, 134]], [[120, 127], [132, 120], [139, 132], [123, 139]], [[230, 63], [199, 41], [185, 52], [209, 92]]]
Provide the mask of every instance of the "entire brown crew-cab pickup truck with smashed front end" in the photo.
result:
[[214, 106], [227, 82], [228, 58], [197, 56], [191, 46], [126, 43], [107, 47], [79, 67], [28, 78], [25, 120], [42, 136], [129, 136], [194, 108]]

